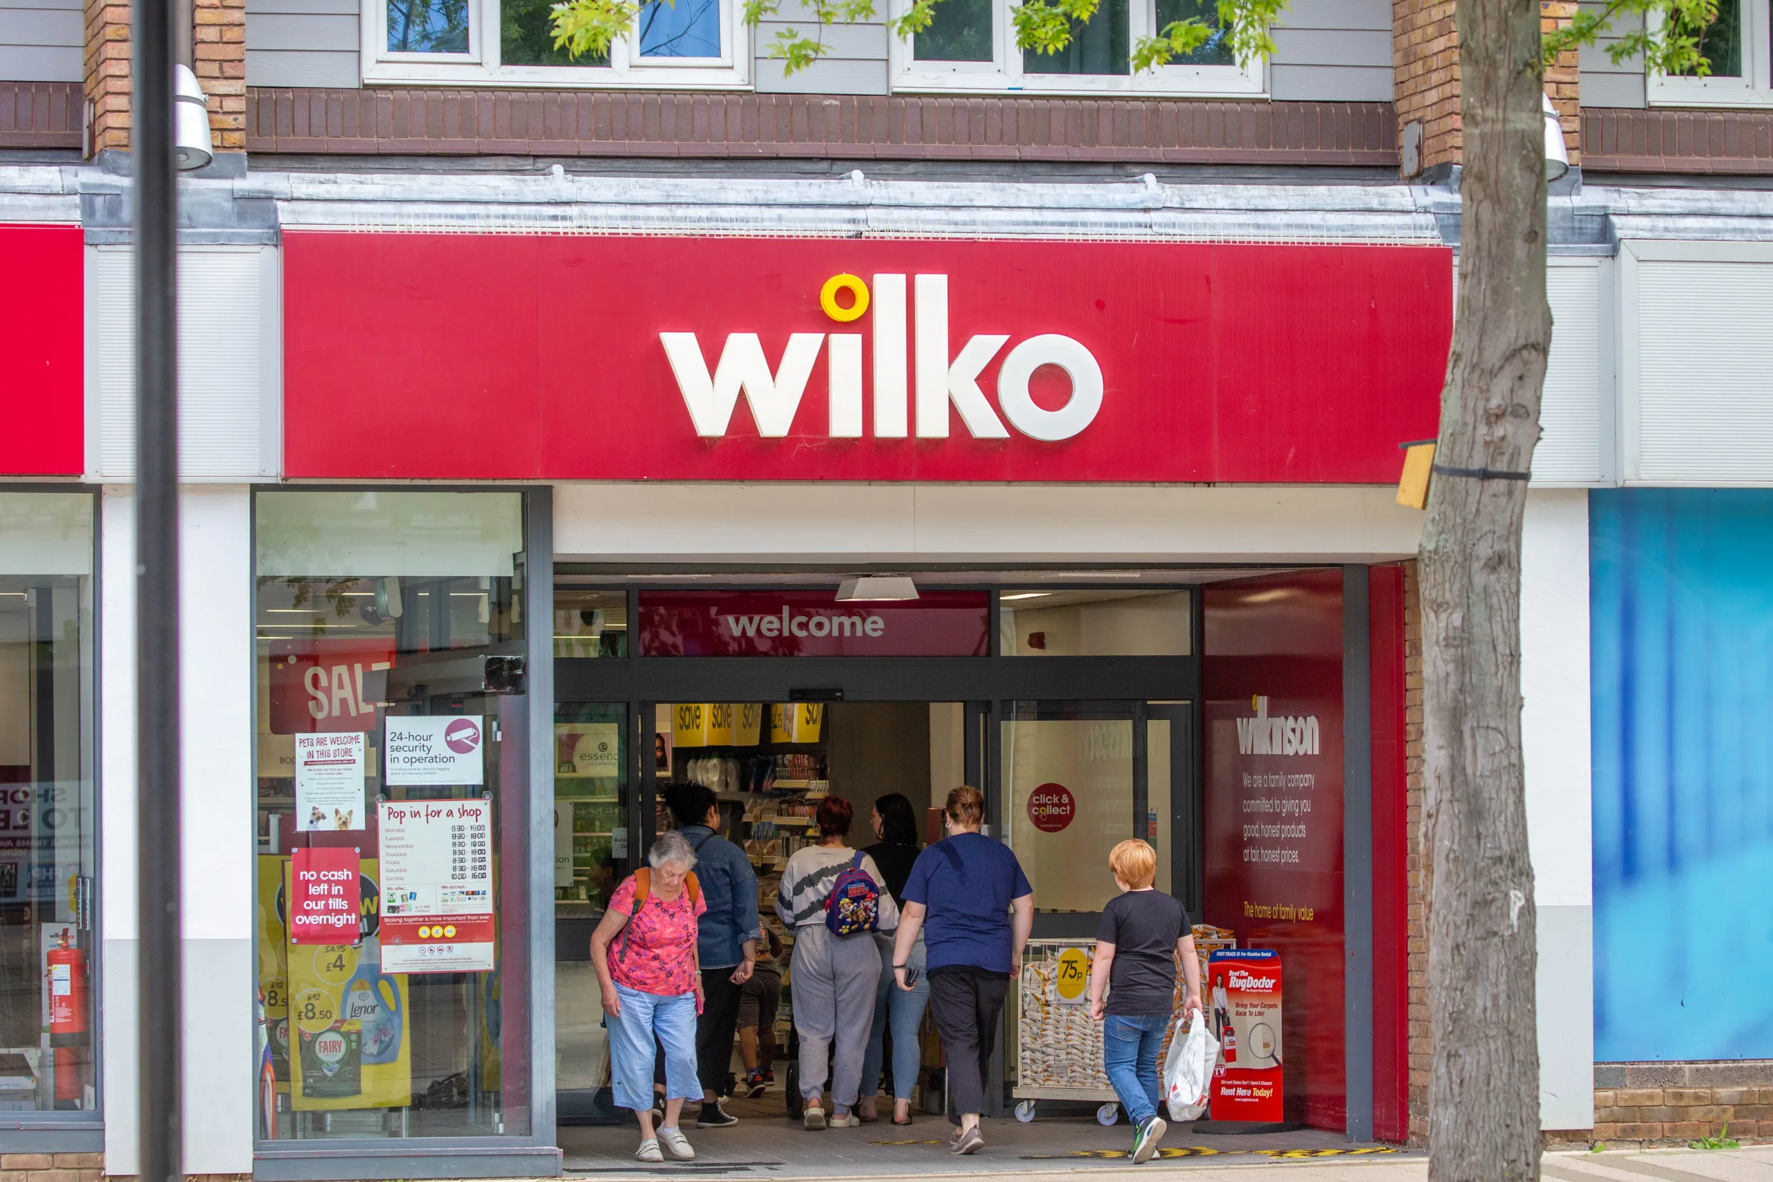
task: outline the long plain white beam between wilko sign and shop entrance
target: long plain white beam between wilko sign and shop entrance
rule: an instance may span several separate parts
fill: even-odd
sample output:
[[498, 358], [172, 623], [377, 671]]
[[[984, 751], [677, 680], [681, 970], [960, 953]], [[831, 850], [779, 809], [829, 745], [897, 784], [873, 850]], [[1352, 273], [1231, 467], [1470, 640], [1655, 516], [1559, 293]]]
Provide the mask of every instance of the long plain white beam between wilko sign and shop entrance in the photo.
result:
[[560, 484], [562, 562], [1369, 562], [1413, 555], [1394, 487]]

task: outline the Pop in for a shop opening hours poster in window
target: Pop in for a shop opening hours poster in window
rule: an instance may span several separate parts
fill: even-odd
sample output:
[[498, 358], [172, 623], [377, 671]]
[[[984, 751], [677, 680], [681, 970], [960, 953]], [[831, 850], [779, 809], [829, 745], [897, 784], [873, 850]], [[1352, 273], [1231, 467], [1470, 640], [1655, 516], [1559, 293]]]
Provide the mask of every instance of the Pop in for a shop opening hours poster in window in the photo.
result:
[[493, 803], [383, 801], [381, 968], [493, 969]]

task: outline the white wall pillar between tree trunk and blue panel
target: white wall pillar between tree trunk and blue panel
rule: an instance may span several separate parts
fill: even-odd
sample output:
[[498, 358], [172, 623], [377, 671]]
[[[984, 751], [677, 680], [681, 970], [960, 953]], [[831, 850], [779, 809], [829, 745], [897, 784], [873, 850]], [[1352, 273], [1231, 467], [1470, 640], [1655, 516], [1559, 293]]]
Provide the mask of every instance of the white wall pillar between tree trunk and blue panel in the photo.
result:
[[1521, 753], [1539, 911], [1539, 1122], [1594, 1127], [1589, 494], [1534, 489], [1521, 532]]

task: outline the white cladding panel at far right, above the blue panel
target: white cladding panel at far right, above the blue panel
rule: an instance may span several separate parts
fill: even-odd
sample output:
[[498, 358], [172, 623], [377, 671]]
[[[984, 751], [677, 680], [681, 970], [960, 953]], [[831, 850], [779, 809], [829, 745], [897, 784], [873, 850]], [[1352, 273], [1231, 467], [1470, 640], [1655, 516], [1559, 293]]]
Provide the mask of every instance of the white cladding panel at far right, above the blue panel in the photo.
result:
[[1621, 250], [1624, 478], [1773, 482], [1773, 245]]

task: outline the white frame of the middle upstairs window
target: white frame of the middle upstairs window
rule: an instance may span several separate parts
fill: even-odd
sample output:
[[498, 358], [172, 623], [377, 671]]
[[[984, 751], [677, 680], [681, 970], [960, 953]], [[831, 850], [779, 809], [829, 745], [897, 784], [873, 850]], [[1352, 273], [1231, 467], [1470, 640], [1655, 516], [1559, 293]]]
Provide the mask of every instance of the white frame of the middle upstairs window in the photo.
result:
[[[1250, 99], [1268, 96], [1268, 60], [1243, 66], [1158, 66], [1131, 74], [1030, 74], [1023, 69], [1023, 51], [1016, 46], [1011, 9], [1021, 0], [991, 0], [989, 62], [918, 62], [911, 39], [892, 37], [888, 67], [895, 92], [927, 94], [1168, 94], [1202, 99]], [[1761, 0], [1766, 4], [1766, 0]], [[888, 12], [899, 18], [911, 0], [890, 0]], [[1154, 35], [1156, 0], [1128, 0], [1128, 51], [1140, 37]], [[1101, 11], [1097, 16], [1101, 19]]]

